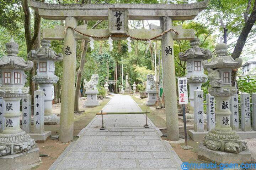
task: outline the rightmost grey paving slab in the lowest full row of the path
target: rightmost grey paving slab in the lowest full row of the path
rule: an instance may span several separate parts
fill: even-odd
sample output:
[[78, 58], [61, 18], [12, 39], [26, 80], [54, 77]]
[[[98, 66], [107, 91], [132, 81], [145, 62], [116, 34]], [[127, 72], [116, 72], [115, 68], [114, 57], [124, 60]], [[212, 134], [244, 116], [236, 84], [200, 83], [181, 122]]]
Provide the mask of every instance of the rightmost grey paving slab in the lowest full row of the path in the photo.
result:
[[176, 168], [171, 159], [159, 160], [139, 160], [140, 168]]

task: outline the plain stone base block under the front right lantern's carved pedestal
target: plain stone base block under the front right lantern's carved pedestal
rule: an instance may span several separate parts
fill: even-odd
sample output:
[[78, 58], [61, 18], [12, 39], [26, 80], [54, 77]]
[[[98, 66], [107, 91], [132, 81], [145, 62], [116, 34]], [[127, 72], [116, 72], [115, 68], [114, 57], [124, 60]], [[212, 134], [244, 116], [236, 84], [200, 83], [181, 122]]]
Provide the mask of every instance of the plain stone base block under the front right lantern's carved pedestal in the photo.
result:
[[222, 151], [213, 151], [203, 146], [201, 142], [198, 146], [198, 158], [213, 163], [250, 163], [251, 162], [251, 153], [249, 150], [241, 151], [240, 153], [227, 153]]

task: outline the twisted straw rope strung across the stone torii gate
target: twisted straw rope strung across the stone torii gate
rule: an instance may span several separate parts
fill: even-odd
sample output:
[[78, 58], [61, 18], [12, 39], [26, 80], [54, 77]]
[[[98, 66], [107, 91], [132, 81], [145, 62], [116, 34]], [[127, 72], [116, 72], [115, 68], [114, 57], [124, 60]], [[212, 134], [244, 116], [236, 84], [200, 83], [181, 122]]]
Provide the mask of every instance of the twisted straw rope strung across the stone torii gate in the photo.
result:
[[[73, 28], [73, 27], [66, 27], [67, 28], [71, 28], [73, 29], [75, 32], [78, 32], [79, 34], [82, 34], [84, 36], [87, 36], [87, 37], [91, 37], [91, 38], [97, 38], [97, 39], [103, 39], [103, 38], [109, 38], [109, 37], [118, 37], [118, 38], [121, 38], [121, 37], [130, 37], [132, 39], [135, 39], [135, 40], [141, 40], [141, 41], [148, 41], [148, 40], [154, 40], [154, 39], [157, 39], [163, 35], [165, 35], [166, 33], [170, 32], [170, 31], [173, 31], [176, 35], [179, 35], [180, 33], [178, 33], [176, 30], [174, 29], [168, 29], [166, 30], [165, 32], [153, 37], [153, 38], [136, 38], [134, 36], [130, 36], [130, 35], [119, 35], [119, 34], [113, 34], [113, 35], [109, 35], [109, 36], [94, 36], [94, 35], [89, 35], [89, 34], [84, 34], [82, 32], [80, 32], [79, 30]], [[66, 32], [66, 29], [64, 32]]]

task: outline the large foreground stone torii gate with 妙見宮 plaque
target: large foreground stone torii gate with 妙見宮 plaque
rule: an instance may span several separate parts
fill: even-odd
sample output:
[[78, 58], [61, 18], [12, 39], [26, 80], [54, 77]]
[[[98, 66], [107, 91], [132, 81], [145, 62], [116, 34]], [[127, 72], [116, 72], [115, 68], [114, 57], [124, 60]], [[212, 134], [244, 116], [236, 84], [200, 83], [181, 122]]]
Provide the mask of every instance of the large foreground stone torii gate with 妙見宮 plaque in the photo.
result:
[[[167, 138], [178, 140], [178, 114], [177, 95], [174, 65], [173, 40], [191, 40], [195, 37], [193, 29], [182, 29], [182, 26], [172, 26], [174, 20], [194, 19], [200, 11], [205, 9], [209, 0], [193, 4], [46, 4], [29, 0], [30, 6], [39, 12], [44, 19], [65, 20], [65, 27], [56, 26], [54, 29], [43, 29], [43, 38], [49, 40], [64, 40], [63, 58], [63, 85], [62, 103], [60, 114], [60, 136], [62, 142], [73, 140], [74, 128], [74, 93], [75, 93], [75, 64], [76, 64], [76, 40], [89, 39], [75, 32], [94, 36], [109, 36], [113, 34], [128, 34], [136, 38], [149, 39], [162, 32], [175, 29], [162, 37], [162, 61], [164, 72], [165, 113]], [[116, 12], [123, 13], [122, 24], [117, 26]], [[120, 18], [119, 18], [120, 19]], [[128, 29], [130, 20], [160, 20], [161, 29], [135, 30]], [[108, 20], [108, 29], [87, 29], [86, 25], [77, 26], [78, 20]], [[68, 27], [68, 28], [67, 28]], [[63, 34], [66, 29], [66, 33]], [[126, 37], [127, 38], [127, 37]], [[121, 39], [126, 39], [121, 38]], [[96, 38], [94, 38], [97, 40]], [[107, 38], [106, 38], [107, 39]], [[112, 38], [119, 40], [119, 38]], [[103, 39], [101, 39], [103, 40]], [[169, 50], [169, 53], [165, 51]], [[172, 50], [172, 51], [171, 51]]]

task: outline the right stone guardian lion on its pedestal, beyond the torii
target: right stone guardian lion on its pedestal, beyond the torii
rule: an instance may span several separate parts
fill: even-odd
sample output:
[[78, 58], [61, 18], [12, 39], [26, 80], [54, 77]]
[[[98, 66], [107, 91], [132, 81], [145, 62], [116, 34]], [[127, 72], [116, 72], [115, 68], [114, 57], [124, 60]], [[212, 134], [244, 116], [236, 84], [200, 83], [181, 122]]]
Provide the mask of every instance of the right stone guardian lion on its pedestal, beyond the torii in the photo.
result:
[[157, 100], [156, 98], [156, 81], [154, 80], [153, 74], [147, 75], [147, 84], [149, 84], [148, 92], [148, 101], [146, 102], [147, 106], [155, 105], [155, 102]]

